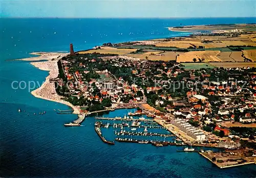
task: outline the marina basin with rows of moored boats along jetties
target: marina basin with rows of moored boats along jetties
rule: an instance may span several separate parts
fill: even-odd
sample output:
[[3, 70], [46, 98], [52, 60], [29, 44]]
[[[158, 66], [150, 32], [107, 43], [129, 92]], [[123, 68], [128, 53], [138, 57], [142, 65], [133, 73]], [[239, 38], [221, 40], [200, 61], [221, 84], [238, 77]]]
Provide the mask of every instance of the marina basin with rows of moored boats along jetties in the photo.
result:
[[[177, 137], [151, 118], [96, 117], [102, 132], [110, 134], [113, 140], [131, 143], [152, 143], [155, 146], [182, 145]], [[155, 143], [155, 144], [154, 144]]]

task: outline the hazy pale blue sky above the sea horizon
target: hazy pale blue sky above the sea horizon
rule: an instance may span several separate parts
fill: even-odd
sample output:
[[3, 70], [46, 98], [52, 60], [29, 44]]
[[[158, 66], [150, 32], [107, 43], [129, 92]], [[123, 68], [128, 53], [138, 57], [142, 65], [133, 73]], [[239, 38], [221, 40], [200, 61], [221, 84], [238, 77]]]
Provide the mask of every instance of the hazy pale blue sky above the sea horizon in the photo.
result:
[[249, 0], [0, 0], [1, 17], [256, 17]]

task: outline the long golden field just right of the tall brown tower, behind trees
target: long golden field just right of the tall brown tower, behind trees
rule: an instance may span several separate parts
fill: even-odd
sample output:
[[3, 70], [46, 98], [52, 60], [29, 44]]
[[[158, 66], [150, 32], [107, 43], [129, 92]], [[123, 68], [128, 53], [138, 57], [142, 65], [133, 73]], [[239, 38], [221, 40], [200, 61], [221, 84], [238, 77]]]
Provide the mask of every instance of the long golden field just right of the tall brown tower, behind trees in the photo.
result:
[[79, 52], [78, 54], [91, 54], [91, 53], [100, 53], [100, 54], [117, 54], [125, 55], [132, 52], [135, 52], [137, 49], [119, 49], [114, 47], [101, 47], [101, 49], [92, 49], [86, 52]]

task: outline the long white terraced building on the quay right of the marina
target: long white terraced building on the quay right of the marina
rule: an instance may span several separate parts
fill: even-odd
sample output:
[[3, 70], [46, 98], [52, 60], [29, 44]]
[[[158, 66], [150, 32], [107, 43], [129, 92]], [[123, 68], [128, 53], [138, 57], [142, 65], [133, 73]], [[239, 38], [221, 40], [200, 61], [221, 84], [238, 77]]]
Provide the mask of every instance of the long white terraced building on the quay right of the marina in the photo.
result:
[[192, 137], [197, 141], [205, 140], [204, 133], [190, 125], [185, 119], [170, 119], [170, 123], [177, 126], [181, 131], [185, 132], [189, 137]]

